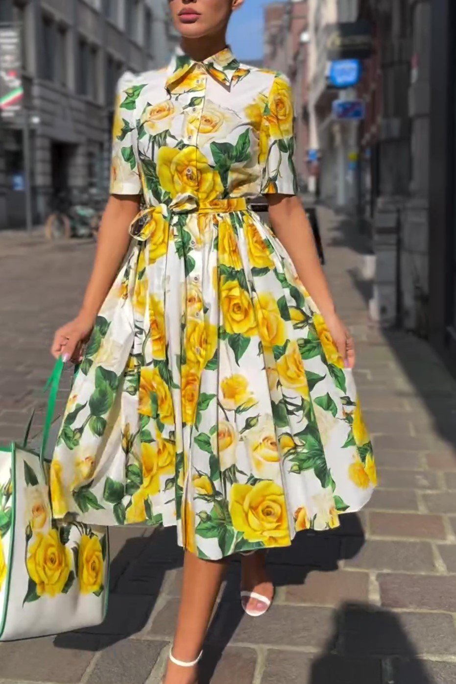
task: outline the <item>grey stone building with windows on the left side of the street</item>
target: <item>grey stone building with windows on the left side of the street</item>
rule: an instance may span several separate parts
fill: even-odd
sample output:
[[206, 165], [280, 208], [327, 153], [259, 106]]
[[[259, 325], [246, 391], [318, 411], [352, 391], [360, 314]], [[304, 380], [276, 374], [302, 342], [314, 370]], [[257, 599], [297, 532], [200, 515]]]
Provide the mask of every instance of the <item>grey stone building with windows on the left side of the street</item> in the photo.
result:
[[27, 126], [23, 116], [1, 124], [0, 228], [12, 228], [25, 224], [13, 183], [24, 173], [24, 136], [33, 222], [61, 189], [105, 190], [116, 82], [124, 70], [165, 64], [176, 39], [167, 0], [1, 0], [0, 22], [23, 36]]

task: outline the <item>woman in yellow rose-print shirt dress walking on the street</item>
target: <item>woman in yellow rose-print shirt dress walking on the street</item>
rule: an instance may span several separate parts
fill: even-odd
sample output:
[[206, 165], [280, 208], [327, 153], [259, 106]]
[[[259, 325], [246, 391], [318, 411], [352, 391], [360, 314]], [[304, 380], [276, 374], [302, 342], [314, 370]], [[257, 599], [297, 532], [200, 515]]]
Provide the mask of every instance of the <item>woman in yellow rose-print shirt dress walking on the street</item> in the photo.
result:
[[[175, 525], [185, 547], [165, 684], [196, 682], [230, 555], [259, 616], [266, 550], [336, 527], [375, 485], [353, 340], [295, 196], [289, 83], [226, 47], [242, 1], [170, 0], [170, 65], [120, 79], [92, 277], [53, 343], [81, 362], [55, 514]], [[273, 232], [245, 204], [260, 192]]]

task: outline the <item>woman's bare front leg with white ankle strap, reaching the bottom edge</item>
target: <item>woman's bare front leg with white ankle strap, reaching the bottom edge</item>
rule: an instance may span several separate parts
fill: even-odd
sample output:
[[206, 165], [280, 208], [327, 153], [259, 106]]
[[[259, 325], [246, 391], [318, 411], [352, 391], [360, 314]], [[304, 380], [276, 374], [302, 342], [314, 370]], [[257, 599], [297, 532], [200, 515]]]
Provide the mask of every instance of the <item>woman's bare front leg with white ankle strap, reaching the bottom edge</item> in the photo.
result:
[[[192, 662], [198, 658], [206, 636], [226, 560], [206, 561], [185, 551], [184, 577], [172, 655]], [[194, 684], [198, 666], [181, 668], [169, 662], [164, 684]]]

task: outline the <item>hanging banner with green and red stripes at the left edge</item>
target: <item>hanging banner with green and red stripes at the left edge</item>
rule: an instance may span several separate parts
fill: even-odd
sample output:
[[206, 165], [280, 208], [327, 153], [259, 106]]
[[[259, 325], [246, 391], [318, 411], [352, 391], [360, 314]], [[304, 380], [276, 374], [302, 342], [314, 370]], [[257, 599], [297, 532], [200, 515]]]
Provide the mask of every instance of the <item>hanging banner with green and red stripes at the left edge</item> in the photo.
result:
[[21, 29], [0, 26], [0, 112], [12, 118], [23, 107]]

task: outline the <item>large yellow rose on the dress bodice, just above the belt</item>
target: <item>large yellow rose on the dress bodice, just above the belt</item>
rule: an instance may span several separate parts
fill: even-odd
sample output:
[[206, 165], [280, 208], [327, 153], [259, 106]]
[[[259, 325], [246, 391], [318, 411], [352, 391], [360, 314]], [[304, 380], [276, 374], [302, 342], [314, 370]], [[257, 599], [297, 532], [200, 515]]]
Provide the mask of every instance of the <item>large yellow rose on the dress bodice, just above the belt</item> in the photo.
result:
[[183, 150], [161, 147], [157, 157], [159, 180], [163, 189], [174, 198], [180, 194], [198, 196], [200, 202], [210, 202], [224, 192], [218, 171], [198, 148]]

